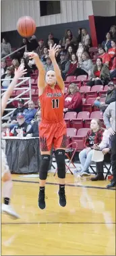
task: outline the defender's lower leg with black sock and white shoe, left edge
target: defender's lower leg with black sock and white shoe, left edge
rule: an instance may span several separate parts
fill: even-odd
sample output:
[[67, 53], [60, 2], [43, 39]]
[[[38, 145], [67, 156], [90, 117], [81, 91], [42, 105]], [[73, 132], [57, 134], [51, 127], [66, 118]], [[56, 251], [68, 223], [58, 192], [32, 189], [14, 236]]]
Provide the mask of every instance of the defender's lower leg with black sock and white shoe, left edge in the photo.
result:
[[2, 177], [3, 181], [3, 188], [2, 188], [2, 195], [3, 195], [3, 203], [1, 205], [1, 212], [7, 213], [11, 215], [11, 217], [17, 219], [20, 216], [14, 211], [10, 205], [11, 200], [11, 190], [12, 190], [12, 181], [11, 181], [11, 174], [10, 172], [5, 172]]

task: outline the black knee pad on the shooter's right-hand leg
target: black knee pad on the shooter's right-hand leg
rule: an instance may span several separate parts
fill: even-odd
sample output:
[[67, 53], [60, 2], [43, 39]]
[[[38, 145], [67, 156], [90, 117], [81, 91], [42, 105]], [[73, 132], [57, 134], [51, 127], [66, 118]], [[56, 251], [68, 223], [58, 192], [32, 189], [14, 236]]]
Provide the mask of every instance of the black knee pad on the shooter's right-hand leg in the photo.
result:
[[55, 159], [57, 161], [57, 176], [63, 179], [65, 178], [65, 150], [57, 149]]

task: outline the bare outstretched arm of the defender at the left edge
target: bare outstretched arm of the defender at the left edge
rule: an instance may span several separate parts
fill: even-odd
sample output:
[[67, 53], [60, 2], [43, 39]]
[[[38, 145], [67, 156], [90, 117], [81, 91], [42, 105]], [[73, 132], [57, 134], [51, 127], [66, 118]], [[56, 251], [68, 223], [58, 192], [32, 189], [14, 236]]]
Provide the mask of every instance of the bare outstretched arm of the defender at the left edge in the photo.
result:
[[26, 74], [26, 70], [22, 70], [22, 66], [18, 68], [18, 70], [15, 70], [15, 76], [11, 83], [9, 84], [7, 91], [5, 91], [2, 99], [1, 99], [1, 116], [3, 116], [3, 111], [7, 105], [7, 101], [9, 97], [11, 96], [11, 93], [13, 92], [14, 87], [16, 86], [18, 79], [22, 77], [24, 74]]

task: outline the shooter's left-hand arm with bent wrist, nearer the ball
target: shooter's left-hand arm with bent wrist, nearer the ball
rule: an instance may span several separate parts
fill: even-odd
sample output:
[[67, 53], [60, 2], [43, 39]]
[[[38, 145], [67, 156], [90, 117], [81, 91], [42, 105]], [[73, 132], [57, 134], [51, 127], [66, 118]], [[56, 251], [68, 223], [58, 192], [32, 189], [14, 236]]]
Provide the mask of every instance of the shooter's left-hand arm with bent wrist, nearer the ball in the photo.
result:
[[28, 53], [28, 56], [34, 59], [36, 63], [36, 67], [38, 68], [38, 88], [39, 88], [39, 95], [41, 95], [45, 89], [45, 68], [40, 61], [37, 53]]

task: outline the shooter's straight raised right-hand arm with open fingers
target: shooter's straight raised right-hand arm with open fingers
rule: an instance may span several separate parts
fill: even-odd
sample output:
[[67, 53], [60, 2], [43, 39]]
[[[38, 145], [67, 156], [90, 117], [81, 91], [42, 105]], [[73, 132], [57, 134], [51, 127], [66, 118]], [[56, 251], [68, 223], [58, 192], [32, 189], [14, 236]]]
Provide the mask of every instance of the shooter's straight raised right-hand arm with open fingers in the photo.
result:
[[63, 78], [61, 76], [61, 70], [59, 69], [59, 66], [57, 65], [57, 61], [55, 59], [55, 53], [57, 53], [58, 50], [59, 49], [58, 49], [56, 44], [53, 47], [51, 45], [50, 49], [49, 49], [49, 57], [51, 58], [51, 61], [53, 63], [53, 68], [55, 70], [57, 83], [59, 84], [59, 87], [61, 88], [61, 91], [64, 93], [65, 84], [64, 84]]

